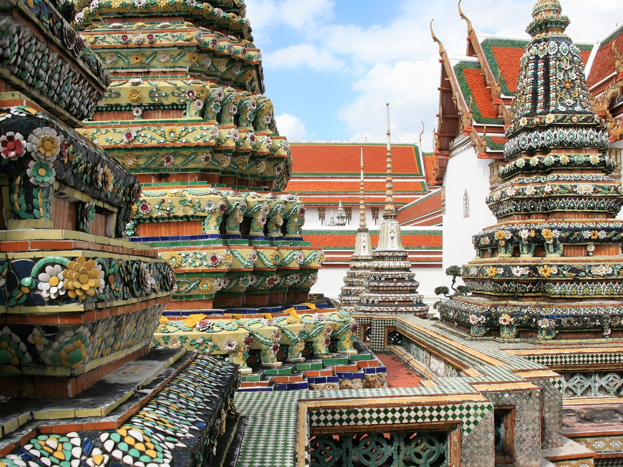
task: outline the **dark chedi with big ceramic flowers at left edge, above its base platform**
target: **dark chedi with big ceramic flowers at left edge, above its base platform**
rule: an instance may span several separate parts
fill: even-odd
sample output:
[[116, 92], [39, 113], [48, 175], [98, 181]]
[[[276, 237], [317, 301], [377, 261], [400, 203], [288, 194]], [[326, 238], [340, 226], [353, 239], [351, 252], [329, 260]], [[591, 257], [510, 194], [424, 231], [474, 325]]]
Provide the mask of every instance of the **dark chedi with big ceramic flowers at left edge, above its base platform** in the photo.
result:
[[108, 85], [64, 2], [0, 4], [0, 395], [74, 397], [146, 352], [173, 271], [120, 237], [135, 176], [72, 128]]

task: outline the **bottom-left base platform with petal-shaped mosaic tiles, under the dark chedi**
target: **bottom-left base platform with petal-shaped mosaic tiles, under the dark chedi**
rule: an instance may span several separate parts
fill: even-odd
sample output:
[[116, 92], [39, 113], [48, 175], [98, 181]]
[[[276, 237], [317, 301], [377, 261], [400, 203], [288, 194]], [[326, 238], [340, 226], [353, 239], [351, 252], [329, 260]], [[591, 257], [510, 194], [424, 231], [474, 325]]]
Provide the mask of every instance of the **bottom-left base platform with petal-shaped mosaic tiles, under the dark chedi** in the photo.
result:
[[211, 465], [235, 437], [237, 384], [221, 359], [163, 349], [73, 399], [11, 399], [0, 403], [0, 467]]

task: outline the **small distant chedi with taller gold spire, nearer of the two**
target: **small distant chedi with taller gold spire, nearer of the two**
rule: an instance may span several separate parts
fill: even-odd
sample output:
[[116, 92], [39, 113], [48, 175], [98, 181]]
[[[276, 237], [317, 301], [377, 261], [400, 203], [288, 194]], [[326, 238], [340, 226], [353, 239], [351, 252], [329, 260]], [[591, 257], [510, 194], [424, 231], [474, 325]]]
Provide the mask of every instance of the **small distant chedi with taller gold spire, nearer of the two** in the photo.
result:
[[386, 199], [383, 222], [379, 229], [379, 243], [373, 253], [371, 270], [365, 281], [365, 290], [354, 304], [354, 313], [412, 313], [426, 315], [429, 307], [417, 293], [419, 283], [411, 272], [407, 251], [402, 246], [400, 224], [396, 220], [392, 185], [391, 139], [388, 108], [388, 152]]

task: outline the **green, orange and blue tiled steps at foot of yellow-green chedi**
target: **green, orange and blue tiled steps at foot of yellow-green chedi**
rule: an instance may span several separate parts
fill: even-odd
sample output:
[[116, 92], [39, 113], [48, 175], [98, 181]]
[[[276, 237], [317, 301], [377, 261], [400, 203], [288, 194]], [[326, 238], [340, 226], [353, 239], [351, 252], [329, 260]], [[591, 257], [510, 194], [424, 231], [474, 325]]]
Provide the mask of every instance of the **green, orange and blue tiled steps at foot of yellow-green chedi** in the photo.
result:
[[384, 387], [386, 368], [374, 354], [359, 344], [358, 354], [333, 354], [326, 359], [308, 359], [301, 363], [284, 362], [282, 367], [254, 368], [242, 375], [239, 391], [283, 391], [296, 389], [362, 389]]

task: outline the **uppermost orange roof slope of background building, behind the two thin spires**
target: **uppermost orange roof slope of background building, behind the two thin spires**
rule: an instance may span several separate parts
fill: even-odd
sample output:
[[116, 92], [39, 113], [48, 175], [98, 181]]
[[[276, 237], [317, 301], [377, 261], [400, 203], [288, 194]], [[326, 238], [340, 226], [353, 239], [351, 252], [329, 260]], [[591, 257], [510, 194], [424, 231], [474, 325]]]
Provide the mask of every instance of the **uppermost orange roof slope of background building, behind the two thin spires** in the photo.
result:
[[[358, 176], [361, 145], [343, 143], [292, 143], [292, 176]], [[385, 174], [384, 144], [364, 144], [363, 165], [366, 176]], [[392, 146], [394, 176], [424, 176], [416, 146]]]

